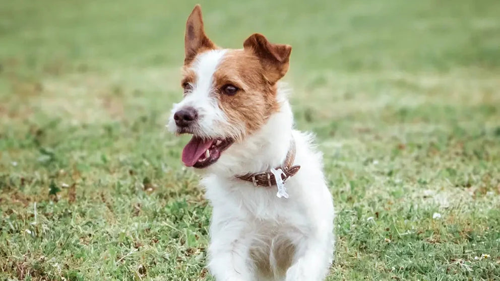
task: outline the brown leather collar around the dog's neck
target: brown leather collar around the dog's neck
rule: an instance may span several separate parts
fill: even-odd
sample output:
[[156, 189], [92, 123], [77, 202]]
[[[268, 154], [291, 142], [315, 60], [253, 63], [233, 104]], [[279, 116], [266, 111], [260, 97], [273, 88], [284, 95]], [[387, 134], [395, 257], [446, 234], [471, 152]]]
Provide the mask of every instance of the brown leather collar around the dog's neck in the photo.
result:
[[[288, 178], [291, 176], [295, 175], [298, 170], [300, 169], [300, 165], [293, 165], [293, 161], [295, 160], [295, 140], [292, 137], [291, 143], [290, 143], [290, 149], [288, 150], [288, 153], [286, 155], [285, 163], [281, 167], [277, 167], [277, 169], [283, 170], [283, 174], [281, 174], [281, 179], [283, 181], [286, 181]], [[276, 185], [276, 178], [273, 173], [269, 172], [262, 172], [262, 173], [255, 173], [255, 174], [245, 174], [242, 176], [236, 176], [238, 179], [242, 179], [245, 181], [253, 182], [254, 186], [266, 186], [266, 187], [271, 187], [273, 185]]]

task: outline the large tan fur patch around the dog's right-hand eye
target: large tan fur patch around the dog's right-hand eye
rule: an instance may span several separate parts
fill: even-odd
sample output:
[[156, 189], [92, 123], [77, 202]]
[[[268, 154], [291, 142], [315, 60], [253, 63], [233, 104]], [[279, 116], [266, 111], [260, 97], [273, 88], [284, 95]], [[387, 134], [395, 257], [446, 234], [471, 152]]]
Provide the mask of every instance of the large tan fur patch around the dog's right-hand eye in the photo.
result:
[[[261, 128], [279, 110], [276, 84], [270, 83], [264, 74], [259, 58], [244, 49], [229, 50], [214, 74], [220, 108], [231, 124], [244, 124], [246, 133]], [[226, 85], [239, 90], [234, 95], [224, 94]]]

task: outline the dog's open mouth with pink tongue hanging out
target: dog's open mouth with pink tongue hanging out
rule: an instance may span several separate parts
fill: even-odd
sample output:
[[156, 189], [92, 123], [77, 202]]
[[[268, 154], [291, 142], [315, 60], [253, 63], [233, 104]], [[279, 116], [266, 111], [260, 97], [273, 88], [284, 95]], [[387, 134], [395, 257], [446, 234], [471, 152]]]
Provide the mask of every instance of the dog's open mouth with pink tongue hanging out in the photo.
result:
[[188, 167], [208, 167], [217, 162], [220, 154], [232, 143], [233, 140], [230, 138], [206, 139], [193, 136], [182, 150], [182, 162]]

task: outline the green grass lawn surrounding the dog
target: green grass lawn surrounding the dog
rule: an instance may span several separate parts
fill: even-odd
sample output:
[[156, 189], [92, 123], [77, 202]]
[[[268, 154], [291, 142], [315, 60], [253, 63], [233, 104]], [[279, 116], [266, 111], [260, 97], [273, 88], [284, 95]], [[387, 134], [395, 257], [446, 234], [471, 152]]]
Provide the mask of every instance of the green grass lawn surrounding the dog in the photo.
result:
[[[211, 208], [164, 129], [194, 4], [0, 2], [1, 280], [213, 280]], [[293, 46], [337, 209], [328, 280], [500, 278], [500, 2], [202, 6], [221, 46]]]

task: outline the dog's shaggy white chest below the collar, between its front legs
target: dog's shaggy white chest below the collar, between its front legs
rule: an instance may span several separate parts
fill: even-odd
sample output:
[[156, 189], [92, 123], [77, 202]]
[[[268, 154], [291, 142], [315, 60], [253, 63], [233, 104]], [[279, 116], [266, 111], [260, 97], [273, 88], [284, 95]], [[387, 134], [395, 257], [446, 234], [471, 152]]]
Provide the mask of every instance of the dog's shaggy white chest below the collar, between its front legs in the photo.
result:
[[217, 177], [205, 178], [203, 184], [213, 205], [213, 230], [217, 233], [219, 225], [239, 225], [260, 279], [284, 276], [295, 245], [310, 231], [298, 183], [287, 182], [288, 199], [278, 198], [275, 186], [254, 187]]

